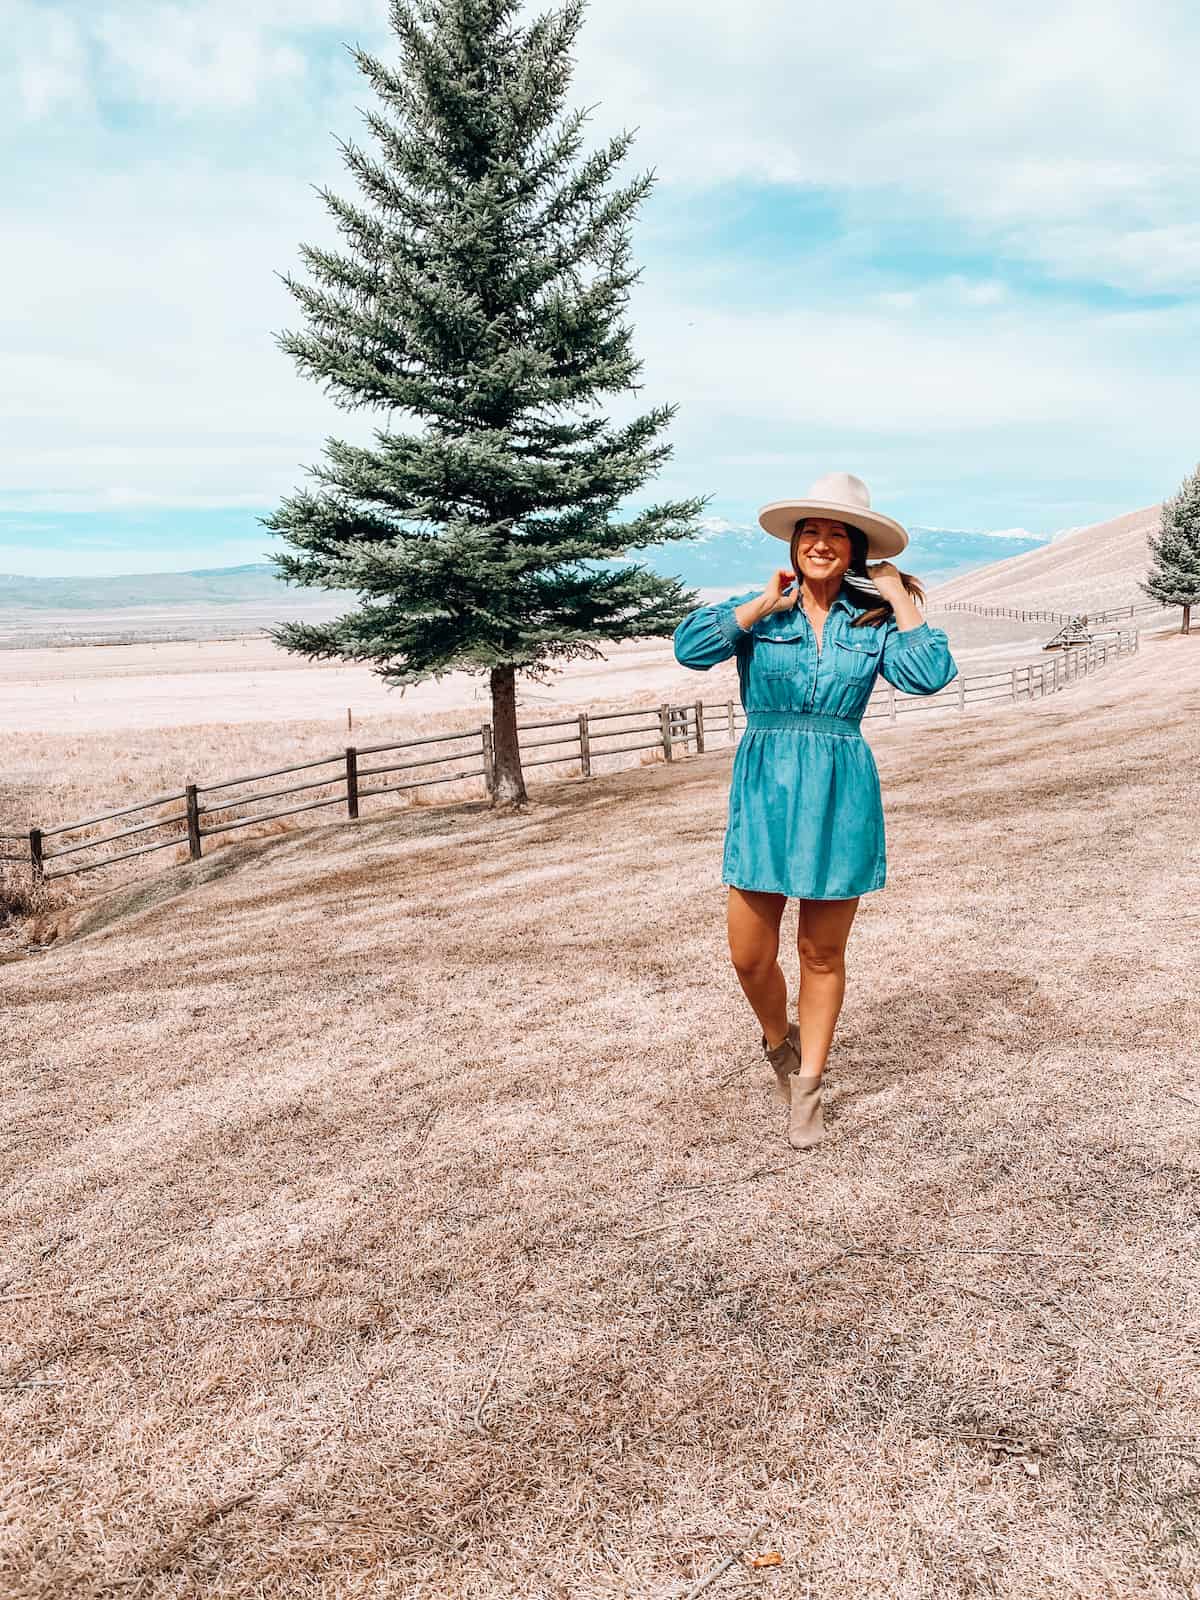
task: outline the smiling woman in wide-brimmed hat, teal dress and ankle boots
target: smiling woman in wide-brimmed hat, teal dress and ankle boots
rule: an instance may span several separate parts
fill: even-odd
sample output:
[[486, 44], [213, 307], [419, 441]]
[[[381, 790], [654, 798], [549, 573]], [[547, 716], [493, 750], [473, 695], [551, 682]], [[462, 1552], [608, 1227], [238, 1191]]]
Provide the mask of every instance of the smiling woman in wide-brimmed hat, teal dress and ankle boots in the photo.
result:
[[[688, 613], [675, 659], [706, 672], [738, 658], [746, 731], [722, 862], [730, 955], [763, 1029], [776, 1096], [790, 1106], [787, 1141], [803, 1150], [826, 1131], [821, 1074], [845, 997], [850, 925], [859, 896], [886, 875], [878, 770], [859, 722], [877, 675], [907, 694], [936, 694], [958, 669], [946, 634], [917, 608], [925, 590], [886, 560], [907, 533], [870, 509], [861, 478], [830, 472], [803, 499], [765, 506], [758, 525], [787, 541], [789, 566], [762, 594]], [[778, 963], [789, 896], [800, 901], [795, 1022]]]

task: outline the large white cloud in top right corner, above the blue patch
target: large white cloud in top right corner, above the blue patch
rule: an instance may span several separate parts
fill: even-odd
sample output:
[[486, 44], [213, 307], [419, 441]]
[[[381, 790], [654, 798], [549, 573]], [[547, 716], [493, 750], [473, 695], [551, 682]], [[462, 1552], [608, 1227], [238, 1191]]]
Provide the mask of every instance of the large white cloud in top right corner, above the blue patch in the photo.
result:
[[867, 224], [918, 197], [1051, 272], [1192, 288], [1198, 32], [1173, 0], [605, 0], [574, 88], [672, 182], [819, 184]]

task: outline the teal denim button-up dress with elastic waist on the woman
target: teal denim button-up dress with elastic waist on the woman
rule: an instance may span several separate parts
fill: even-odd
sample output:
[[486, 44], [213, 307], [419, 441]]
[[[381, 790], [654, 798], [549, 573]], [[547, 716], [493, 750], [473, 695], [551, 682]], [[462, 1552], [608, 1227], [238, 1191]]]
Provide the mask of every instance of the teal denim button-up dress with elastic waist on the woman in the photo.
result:
[[675, 659], [707, 672], [738, 658], [746, 730], [733, 757], [722, 883], [797, 899], [853, 899], [886, 877], [878, 768], [859, 726], [878, 674], [906, 694], [936, 694], [958, 672], [946, 634], [920, 622], [853, 627], [845, 587], [818, 648], [800, 603], [752, 629], [747, 589], [690, 611]]

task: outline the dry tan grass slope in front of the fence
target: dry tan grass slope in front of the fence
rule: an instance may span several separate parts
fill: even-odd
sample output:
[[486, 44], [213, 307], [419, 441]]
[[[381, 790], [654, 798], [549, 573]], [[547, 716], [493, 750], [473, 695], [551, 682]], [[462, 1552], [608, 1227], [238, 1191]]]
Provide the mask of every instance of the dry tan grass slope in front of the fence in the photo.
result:
[[1163, 634], [872, 730], [808, 1155], [725, 752], [80, 902], [0, 965], [5, 1600], [1198, 1594], [1198, 728]]

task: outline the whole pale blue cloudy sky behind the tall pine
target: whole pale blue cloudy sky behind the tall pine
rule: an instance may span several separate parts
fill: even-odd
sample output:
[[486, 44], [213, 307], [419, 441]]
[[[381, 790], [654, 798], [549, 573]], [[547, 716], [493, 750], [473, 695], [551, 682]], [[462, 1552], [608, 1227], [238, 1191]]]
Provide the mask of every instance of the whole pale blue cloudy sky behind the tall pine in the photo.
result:
[[[978, 11], [592, 0], [568, 102], [658, 174], [611, 406], [678, 403], [654, 494], [744, 525], [842, 469], [904, 522], [1053, 533], [1194, 469], [1200, 19]], [[272, 334], [312, 186], [354, 192], [341, 42], [387, 54], [384, 0], [3, 14], [0, 571], [261, 560], [256, 515], [373, 426]]]

